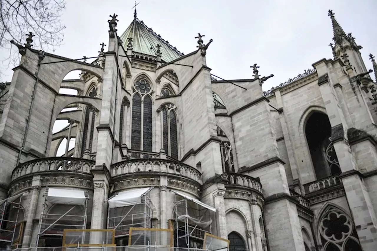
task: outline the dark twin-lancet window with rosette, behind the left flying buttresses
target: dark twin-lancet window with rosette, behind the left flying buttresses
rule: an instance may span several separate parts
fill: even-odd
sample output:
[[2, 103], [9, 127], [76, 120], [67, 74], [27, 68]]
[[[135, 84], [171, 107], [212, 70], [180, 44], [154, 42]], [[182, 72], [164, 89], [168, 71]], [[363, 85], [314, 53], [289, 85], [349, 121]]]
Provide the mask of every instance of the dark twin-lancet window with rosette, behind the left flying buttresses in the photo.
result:
[[[90, 97], [97, 96], [98, 88], [92, 87], [89, 92]], [[81, 143], [81, 155], [84, 155], [85, 150], [92, 151], [93, 146], [93, 133], [95, 124], [95, 110], [91, 106], [86, 106], [83, 125], [83, 137]]]

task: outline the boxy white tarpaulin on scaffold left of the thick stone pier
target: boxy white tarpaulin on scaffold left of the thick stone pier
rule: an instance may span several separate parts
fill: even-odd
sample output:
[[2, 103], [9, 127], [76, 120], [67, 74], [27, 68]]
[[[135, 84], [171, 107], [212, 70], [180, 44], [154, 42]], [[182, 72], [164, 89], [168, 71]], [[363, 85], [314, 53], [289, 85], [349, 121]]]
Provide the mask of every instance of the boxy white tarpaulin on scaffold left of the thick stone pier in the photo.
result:
[[48, 188], [47, 201], [52, 204], [85, 205], [85, 192], [82, 190]]

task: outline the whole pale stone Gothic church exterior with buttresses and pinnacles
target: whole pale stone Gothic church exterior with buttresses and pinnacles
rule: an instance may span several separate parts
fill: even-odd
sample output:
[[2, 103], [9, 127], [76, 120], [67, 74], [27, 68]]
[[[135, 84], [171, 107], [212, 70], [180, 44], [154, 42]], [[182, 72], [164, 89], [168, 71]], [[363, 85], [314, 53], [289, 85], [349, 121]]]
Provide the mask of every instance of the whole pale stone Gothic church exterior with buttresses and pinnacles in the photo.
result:
[[[66, 228], [113, 229], [117, 245], [137, 245], [129, 229], [144, 227], [174, 236], [155, 244], [182, 248], [214, 250], [206, 236], [229, 239], [230, 250], [376, 250], [375, 83], [361, 47], [329, 16], [334, 58], [268, 92], [262, 84], [273, 76], [260, 78], [256, 65], [250, 79], [213, 78], [211, 40], [198, 34], [198, 49], [183, 55], [136, 13], [121, 36], [109, 20], [107, 51], [92, 63], [17, 45], [21, 63], [0, 86], [9, 90], [0, 110], [2, 245], [61, 246]], [[72, 70], [80, 79], [64, 80]], [[69, 125], [53, 133], [62, 119]], [[64, 138], [75, 147], [56, 156]], [[140, 202], [123, 205], [128, 213], [110, 205], [143, 188]], [[62, 202], [68, 195], [54, 189], [82, 200]], [[111, 244], [100, 231], [80, 242], [99, 239]]]

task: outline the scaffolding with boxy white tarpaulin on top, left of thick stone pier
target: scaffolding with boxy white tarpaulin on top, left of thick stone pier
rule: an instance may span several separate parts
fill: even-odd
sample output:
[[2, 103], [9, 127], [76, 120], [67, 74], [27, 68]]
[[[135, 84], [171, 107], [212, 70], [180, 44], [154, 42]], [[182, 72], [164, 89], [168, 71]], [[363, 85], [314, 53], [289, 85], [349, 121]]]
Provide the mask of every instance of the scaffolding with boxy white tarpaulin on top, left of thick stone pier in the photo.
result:
[[[41, 246], [62, 246], [64, 229], [86, 229], [88, 199], [88, 191], [46, 187], [36, 246], [40, 244]], [[48, 205], [51, 208], [60, 205], [65, 212], [63, 214], [46, 213]], [[80, 206], [84, 207], [82, 215], [77, 211], [74, 213], [75, 209], [81, 209]], [[84, 243], [87, 239], [89, 239], [89, 234], [87, 236], [84, 234], [80, 236], [80, 240], [76, 241]], [[40, 243], [41, 240], [48, 240], [49, 243]]]

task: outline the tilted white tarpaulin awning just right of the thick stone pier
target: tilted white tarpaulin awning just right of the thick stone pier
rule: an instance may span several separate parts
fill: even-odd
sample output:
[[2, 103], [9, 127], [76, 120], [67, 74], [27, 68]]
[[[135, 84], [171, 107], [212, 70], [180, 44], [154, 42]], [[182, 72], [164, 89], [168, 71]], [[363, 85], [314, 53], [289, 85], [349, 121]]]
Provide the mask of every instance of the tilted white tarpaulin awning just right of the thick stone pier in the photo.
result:
[[109, 208], [141, 204], [141, 197], [152, 190], [152, 188], [153, 187], [145, 187], [120, 192], [109, 199]]

